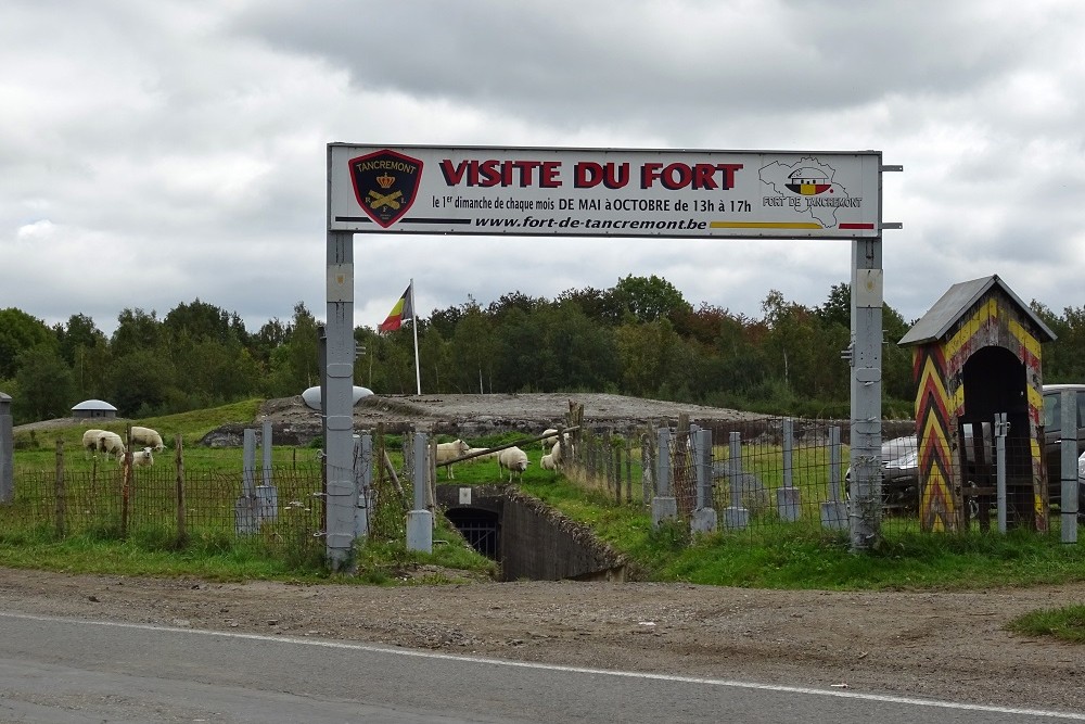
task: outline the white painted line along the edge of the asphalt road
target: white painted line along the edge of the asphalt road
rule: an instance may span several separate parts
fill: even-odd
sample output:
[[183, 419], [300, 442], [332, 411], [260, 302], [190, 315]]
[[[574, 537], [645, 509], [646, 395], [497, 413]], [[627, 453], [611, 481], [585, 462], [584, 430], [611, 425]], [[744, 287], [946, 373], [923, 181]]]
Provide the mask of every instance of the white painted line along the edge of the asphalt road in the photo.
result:
[[301, 646], [317, 646], [331, 649], [347, 649], [352, 651], [368, 651], [372, 653], [392, 653], [404, 657], [416, 657], [420, 659], [442, 659], [446, 661], [464, 661], [469, 663], [488, 664], [494, 666], [511, 666], [518, 669], [539, 669], [545, 671], [560, 671], [575, 674], [597, 674], [600, 676], [620, 676], [625, 678], [643, 678], [662, 682], [677, 682], [682, 684], [704, 684], [706, 686], [726, 686], [740, 689], [761, 689], [765, 691], [781, 691], [786, 694], [808, 694], [822, 697], [838, 697], [841, 699], [861, 699], [865, 701], [885, 701], [890, 703], [910, 704], [914, 707], [931, 707], [934, 709], [961, 709], [966, 711], [990, 711], [1001, 714], [1024, 714], [1029, 716], [1043, 716], [1049, 719], [1064, 719], [1085, 721], [1085, 714], [1063, 711], [1049, 711], [1044, 709], [1019, 709], [1016, 707], [995, 707], [988, 704], [961, 703], [957, 701], [939, 701], [936, 699], [916, 699], [911, 697], [888, 696], [882, 694], [863, 694], [859, 691], [844, 691], [838, 689], [815, 689], [804, 686], [783, 686], [778, 684], [757, 684], [754, 682], [737, 682], [725, 678], [702, 678], [699, 676], [675, 676], [672, 674], [651, 674], [639, 671], [614, 671], [608, 669], [587, 669], [584, 666], [564, 666], [560, 664], [537, 663], [532, 661], [513, 661], [509, 659], [487, 659], [473, 656], [457, 656], [454, 653], [437, 653], [421, 649], [405, 649], [392, 646], [375, 646], [373, 644], [355, 644], [349, 642], [330, 642], [327, 639], [295, 638], [293, 636], [268, 636], [265, 634], [245, 634], [227, 631], [209, 631], [206, 628], [182, 628], [178, 626], [155, 626], [148, 623], [125, 623], [119, 621], [93, 621], [86, 619], [68, 619], [54, 615], [36, 615], [30, 613], [11, 613], [0, 611], [0, 618], [24, 619], [27, 621], [50, 621], [69, 624], [85, 624], [89, 626], [113, 626], [117, 628], [135, 628], [139, 631], [155, 631], [176, 634], [195, 634], [197, 636], [221, 636], [225, 638], [238, 638], [254, 642], [268, 642], [277, 644], [297, 644]]

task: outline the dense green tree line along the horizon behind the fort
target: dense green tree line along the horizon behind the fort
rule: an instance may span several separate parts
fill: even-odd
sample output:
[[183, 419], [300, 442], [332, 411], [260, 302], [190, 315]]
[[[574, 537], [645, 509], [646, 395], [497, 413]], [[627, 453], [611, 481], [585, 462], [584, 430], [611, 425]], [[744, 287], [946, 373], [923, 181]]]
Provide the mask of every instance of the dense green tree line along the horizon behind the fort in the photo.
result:
[[[628, 276], [608, 290], [570, 289], [553, 300], [510, 292], [483, 306], [472, 296], [419, 317], [422, 391], [441, 393], [610, 392], [766, 414], [846, 418], [851, 290], [834, 284], [805, 306], [770, 291], [760, 318], [702, 303], [693, 307], [656, 276]], [[1058, 315], [1033, 302], [1058, 334], [1044, 346], [1045, 381], [1085, 380], [1085, 307]], [[886, 305], [883, 410], [912, 415], [911, 351], [896, 342], [914, 321]], [[251, 397], [286, 397], [319, 384], [321, 322], [303, 303], [290, 320], [250, 332], [231, 312], [178, 304], [161, 319], [126, 308], [106, 336], [76, 314], [49, 327], [0, 309], [0, 391], [15, 424], [67, 417], [104, 399], [144, 418]], [[379, 334], [357, 327], [355, 384], [379, 394], [416, 392], [409, 323]]]

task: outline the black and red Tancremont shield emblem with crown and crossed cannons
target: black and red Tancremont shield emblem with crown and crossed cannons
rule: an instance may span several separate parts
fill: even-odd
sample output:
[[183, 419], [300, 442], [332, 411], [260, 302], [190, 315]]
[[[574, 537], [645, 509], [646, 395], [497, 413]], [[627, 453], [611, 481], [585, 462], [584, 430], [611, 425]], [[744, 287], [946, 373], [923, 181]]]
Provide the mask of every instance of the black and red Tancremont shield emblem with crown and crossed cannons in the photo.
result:
[[395, 151], [376, 151], [350, 160], [354, 195], [369, 218], [387, 229], [414, 203], [422, 162]]

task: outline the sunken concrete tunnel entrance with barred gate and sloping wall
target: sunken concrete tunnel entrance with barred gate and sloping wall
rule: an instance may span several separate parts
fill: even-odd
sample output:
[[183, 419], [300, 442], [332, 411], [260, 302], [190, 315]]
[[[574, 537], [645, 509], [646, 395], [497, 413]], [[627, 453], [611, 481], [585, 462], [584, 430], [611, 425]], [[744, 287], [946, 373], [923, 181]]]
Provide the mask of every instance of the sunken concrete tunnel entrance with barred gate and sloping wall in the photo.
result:
[[502, 485], [438, 485], [437, 505], [471, 544], [501, 566], [502, 581], [625, 581], [622, 556], [590, 529]]

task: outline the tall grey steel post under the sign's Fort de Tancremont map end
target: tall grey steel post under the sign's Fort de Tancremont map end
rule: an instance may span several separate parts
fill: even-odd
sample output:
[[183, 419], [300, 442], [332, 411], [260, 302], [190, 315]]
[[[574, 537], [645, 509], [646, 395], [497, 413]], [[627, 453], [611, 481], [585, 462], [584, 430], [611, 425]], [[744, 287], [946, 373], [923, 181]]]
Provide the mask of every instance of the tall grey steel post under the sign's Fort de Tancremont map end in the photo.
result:
[[852, 550], [881, 535], [881, 237], [852, 242]]

